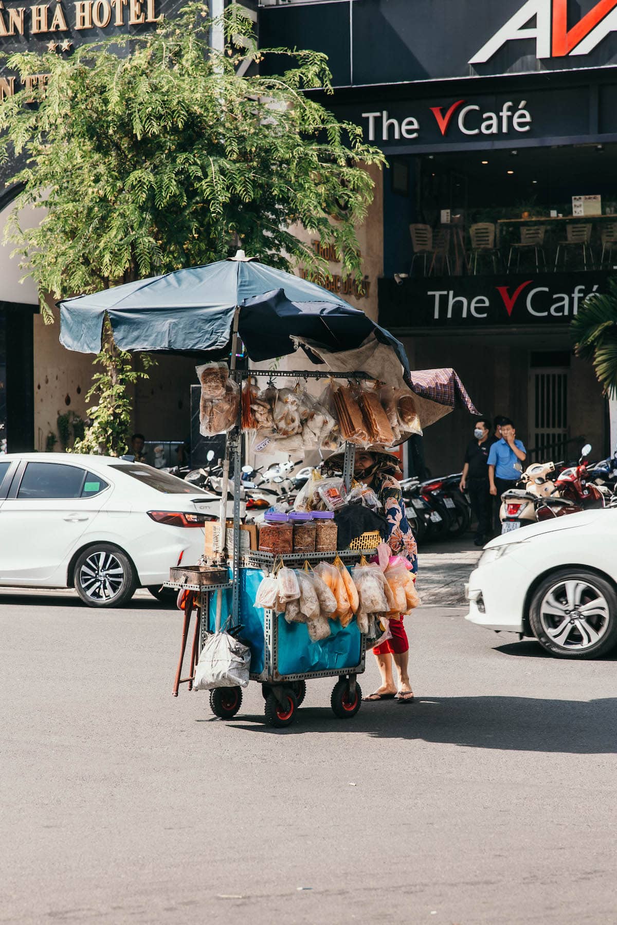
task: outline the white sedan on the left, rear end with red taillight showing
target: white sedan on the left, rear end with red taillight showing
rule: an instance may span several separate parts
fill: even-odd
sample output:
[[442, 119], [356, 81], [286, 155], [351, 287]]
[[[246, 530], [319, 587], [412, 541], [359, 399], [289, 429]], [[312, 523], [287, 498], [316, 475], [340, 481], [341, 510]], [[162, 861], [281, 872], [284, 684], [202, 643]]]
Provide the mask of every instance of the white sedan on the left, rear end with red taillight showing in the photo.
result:
[[151, 466], [107, 456], [0, 456], [0, 586], [75, 587], [120, 607], [162, 598], [169, 567], [204, 552], [212, 496]]

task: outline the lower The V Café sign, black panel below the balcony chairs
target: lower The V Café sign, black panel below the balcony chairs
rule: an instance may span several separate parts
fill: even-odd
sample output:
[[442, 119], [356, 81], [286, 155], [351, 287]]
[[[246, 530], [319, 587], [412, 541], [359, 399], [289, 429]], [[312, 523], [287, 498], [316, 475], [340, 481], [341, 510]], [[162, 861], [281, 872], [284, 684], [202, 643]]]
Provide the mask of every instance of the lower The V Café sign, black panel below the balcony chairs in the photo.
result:
[[379, 280], [379, 323], [398, 330], [568, 325], [608, 271]]

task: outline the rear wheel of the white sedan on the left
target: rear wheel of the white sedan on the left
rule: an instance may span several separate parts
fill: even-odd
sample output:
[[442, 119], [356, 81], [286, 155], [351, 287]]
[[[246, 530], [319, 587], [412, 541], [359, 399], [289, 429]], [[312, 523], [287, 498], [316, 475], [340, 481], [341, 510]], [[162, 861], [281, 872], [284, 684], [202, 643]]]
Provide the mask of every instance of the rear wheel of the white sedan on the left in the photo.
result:
[[75, 563], [75, 590], [89, 607], [122, 607], [135, 593], [137, 574], [126, 553], [97, 543]]

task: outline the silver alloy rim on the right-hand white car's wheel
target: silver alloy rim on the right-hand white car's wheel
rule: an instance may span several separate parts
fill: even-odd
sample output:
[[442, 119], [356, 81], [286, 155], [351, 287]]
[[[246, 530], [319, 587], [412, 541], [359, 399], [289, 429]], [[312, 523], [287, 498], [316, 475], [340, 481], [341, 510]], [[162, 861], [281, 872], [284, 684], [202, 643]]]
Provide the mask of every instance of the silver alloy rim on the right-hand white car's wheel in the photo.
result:
[[549, 588], [540, 604], [540, 623], [551, 642], [581, 651], [597, 645], [611, 620], [607, 599], [588, 581], [573, 578]]

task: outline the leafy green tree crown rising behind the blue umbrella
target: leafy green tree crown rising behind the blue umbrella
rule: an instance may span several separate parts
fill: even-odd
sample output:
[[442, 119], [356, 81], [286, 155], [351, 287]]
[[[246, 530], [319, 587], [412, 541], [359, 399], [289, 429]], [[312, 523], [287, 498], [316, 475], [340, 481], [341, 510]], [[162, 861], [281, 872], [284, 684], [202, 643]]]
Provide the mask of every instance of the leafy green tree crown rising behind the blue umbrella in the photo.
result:
[[[224, 49], [209, 43], [222, 31]], [[239, 76], [271, 53], [280, 76]], [[20, 77], [48, 74], [0, 107], [0, 156], [26, 158], [9, 237], [44, 297], [99, 290], [199, 265], [242, 246], [263, 262], [326, 261], [296, 238], [302, 225], [333, 243], [343, 273], [362, 279], [355, 226], [372, 198], [365, 165], [383, 155], [362, 130], [304, 90], [331, 92], [327, 58], [258, 49], [241, 6], [208, 19], [202, 4], [144, 35], [114, 37], [68, 57], [10, 56]], [[34, 103], [32, 103], [32, 100]], [[35, 228], [19, 209], [41, 204]]]

